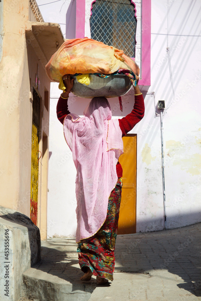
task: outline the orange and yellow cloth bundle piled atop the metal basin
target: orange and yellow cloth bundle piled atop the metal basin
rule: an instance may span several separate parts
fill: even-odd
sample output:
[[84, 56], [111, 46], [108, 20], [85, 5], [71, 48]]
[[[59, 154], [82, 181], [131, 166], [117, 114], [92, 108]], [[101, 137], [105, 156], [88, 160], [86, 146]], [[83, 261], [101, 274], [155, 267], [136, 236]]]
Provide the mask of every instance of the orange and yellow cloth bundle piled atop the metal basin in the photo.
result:
[[88, 38], [66, 40], [46, 65], [49, 79], [55, 82], [65, 74], [111, 74], [119, 69], [140, 73], [137, 64], [123, 50]]

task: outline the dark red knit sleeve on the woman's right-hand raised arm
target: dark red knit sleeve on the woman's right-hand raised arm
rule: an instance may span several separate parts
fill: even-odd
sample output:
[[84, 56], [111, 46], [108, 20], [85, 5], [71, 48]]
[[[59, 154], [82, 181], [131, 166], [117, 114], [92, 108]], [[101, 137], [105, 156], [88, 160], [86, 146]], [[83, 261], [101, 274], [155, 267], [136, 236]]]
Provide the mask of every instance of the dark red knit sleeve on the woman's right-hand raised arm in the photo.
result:
[[119, 126], [122, 131], [122, 137], [130, 132], [133, 127], [144, 117], [144, 98], [143, 95], [135, 95], [135, 103], [130, 114], [119, 119]]

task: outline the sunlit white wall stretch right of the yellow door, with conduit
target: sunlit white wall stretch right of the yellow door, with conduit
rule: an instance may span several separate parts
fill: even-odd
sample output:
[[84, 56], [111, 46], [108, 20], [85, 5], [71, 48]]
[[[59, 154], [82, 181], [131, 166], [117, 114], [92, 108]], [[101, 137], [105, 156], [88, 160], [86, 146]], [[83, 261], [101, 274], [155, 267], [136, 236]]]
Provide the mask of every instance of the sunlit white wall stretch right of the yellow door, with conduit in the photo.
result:
[[[166, 103], [163, 116], [165, 197], [167, 228], [176, 228], [200, 221], [199, 198], [201, 177], [200, 155], [200, 25], [199, 1], [169, 1], [169, 49], [172, 79], [170, 82], [167, 48], [167, 2], [152, 1], [151, 26], [151, 86], [156, 101]], [[145, 99], [146, 115], [139, 124], [153, 125], [143, 138], [138, 139], [138, 182], [144, 188], [137, 196], [137, 231], [150, 227], [162, 228], [162, 176], [160, 157], [159, 117], [155, 120], [153, 99]], [[139, 136], [138, 136], [139, 138]], [[148, 144], [146, 162], [142, 152]], [[148, 153], [150, 151], [150, 154]], [[151, 159], [148, 162], [147, 158]], [[144, 212], [144, 213], [143, 213]], [[155, 221], [155, 222], [154, 222]]]

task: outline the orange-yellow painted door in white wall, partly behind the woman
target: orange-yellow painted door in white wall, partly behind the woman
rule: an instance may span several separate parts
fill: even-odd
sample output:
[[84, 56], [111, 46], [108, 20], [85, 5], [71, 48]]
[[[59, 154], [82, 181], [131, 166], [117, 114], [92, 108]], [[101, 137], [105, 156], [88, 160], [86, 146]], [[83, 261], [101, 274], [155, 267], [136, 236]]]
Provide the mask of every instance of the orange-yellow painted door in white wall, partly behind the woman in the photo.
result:
[[119, 162], [123, 168], [121, 206], [118, 233], [136, 233], [136, 172], [137, 172], [137, 135], [123, 137], [124, 154]]

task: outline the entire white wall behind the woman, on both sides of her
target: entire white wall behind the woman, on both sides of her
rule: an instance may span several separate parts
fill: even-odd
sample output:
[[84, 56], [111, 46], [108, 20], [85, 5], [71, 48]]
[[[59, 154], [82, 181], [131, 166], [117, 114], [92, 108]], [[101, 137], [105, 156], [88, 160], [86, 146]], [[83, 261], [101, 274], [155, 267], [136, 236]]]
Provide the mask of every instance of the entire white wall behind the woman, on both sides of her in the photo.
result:
[[[40, 5], [42, 1], [38, 1]], [[70, 1], [39, 6], [47, 22], [64, 23]], [[61, 2], [62, 3], [62, 2]], [[171, 55], [174, 101], [167, 48], [167, 1], [152, 0], [151, 86], [156, 102], [165, 100], [163, 135], [167, 228], [199, 222], [201, 176], [200, 124], [200, 26], [201, 3], [170, 0], [168, 46]], [[46, 10], [43, 8], [46, 7]], [[56, 8], [57, 7], [57, 8]], [[57, 11], [56, 11], [57, 9]], [[57, 12], [57, 14], [55, 13]], [[62, 28], [63, 32], [66, 31]], [[48, 236], [74, 235], [76, 230], [75, 167], [56, 117], [61, 91], [52, 84], [50, 102]], [[123, 114], [131, 111], [133, 96], [123, 97]], [[160, 117], [155, 116], [154, 98], [145, 97], [145, 116], [132, 130], [137, 133], [137, 232], [164, 228]], [[69, 98], [71, 112], [82, 114], [89, 100]], [[114, 115], [123, 116], [117, 100], [109, 100]], [[117, 118], [117, 117], [116, 117]]]

